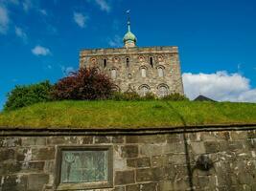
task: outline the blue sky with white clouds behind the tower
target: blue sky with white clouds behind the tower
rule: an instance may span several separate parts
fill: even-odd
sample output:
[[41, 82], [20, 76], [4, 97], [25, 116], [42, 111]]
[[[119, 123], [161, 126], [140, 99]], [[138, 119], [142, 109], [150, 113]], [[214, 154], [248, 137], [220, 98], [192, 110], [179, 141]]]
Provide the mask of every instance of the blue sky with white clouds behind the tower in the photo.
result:
[[83, 48], [179, 47], [185, 93], [256, 101], [255, 0], [0, 0], [0, 109], [16, 84], [56, 82]]

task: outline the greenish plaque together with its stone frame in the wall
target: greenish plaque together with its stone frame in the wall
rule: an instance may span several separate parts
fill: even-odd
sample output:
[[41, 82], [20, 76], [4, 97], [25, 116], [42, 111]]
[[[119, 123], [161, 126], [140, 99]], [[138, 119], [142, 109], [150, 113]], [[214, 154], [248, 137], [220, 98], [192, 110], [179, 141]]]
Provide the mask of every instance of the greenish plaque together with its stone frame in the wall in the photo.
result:
[[59, 147], [57, 190], [112, 186], [110, 146]]

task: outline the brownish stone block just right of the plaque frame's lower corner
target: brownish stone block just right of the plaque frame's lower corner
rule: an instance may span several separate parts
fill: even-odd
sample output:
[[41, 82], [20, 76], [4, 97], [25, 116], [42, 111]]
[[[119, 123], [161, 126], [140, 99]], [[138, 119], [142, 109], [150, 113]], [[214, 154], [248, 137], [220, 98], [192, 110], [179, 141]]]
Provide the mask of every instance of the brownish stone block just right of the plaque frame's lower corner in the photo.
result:
[[134, 183], [135, 176], [134, 171], [117, 171], [115, 173], [115, 184], [124, 185], [128, 183]]

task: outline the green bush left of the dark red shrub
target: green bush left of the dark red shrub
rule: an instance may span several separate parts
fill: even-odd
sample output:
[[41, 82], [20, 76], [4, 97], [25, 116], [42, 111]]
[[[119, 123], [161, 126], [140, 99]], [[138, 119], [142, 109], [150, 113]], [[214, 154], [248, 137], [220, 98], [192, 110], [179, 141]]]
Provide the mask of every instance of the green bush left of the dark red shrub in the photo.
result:
[[32, 105], [37, 102], [51, 100], [52, 85], [46, 80], [32, 85], [15, 86], [7, 96], [5, 111]]

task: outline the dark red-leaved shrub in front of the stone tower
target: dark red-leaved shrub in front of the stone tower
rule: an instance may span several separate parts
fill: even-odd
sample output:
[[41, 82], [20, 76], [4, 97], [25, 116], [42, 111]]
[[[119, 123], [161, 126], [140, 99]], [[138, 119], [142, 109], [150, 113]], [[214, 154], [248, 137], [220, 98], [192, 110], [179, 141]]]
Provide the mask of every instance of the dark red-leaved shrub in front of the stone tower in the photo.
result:
[[112, 95], [114, 84], [106, 74], [96, 68], [81, 68], [58, 81], [53, 89], [57, 100], [94, 100], [106, 99]]

